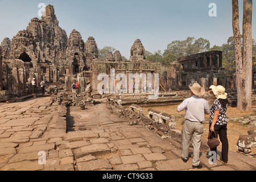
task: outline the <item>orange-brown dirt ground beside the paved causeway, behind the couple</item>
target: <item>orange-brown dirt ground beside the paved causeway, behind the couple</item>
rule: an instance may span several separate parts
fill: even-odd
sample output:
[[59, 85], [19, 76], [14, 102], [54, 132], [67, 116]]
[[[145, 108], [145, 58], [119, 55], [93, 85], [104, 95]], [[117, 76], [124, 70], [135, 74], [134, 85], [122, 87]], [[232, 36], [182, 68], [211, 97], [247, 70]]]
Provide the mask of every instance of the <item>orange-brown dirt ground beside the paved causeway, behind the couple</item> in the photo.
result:
[[[161, 107], [151, 107], [154, 110], [162, 111], [163, 113], [172, 114], [176, 118], [176, 129], [182, 130], [183, 129], [183, 121], [185, 116], [185, 111], [181, 113], [177, 113], [177, 106], [179, 105], [172, 105], [172, 106], [161, 106]], [[148, 115], [148, 108], [143, 108], [143, 114]], [[229, 150], [230, 151], [237, 151], [237, 141], [240, 135], [247, 135], [248, 130], [253, 130], [255, 128], [249, 128], [247, 126], [242, 126], [236, 122], [230, 122], [229, 118], [234, 117], [243, 117], [246, 115], [256, 115], [256, 109], [251, 111], [241, 111], [238, 110], [236, 107], [228, 107], [227, 117], [228, 117], [228, 140], [229, 140]], [[209, 122], [209, 115], [205, 115], [205, 121]], [[207, 140], [208, 138], [208, 131], [209, 131], [209, 123], [204, 123], [204, 134], [202, 139]], [[218, 150], [221, 151], [221, 144], [218, 147]]]

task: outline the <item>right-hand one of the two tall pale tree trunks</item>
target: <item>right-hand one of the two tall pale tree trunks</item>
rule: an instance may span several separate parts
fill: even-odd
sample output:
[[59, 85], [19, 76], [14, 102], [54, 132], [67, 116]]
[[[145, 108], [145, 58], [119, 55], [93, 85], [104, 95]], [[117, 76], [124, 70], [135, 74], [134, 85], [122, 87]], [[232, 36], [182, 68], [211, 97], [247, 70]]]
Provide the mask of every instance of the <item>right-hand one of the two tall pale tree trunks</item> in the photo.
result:
[[[243, 110], [251, 110], [251, 86], [253, 78], [253, 37], [251, 34], [251, 19], [253, 1], [243, 0], [243, 80], [244, 96]], [[243, 87], [244, 86], [244, 87]]]

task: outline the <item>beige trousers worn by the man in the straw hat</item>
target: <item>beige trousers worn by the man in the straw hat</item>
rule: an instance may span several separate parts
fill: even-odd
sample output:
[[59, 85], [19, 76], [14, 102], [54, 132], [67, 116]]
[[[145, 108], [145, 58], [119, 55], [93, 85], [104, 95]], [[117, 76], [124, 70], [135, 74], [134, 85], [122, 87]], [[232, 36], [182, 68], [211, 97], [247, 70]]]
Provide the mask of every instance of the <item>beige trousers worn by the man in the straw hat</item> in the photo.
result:
[[200, 164], [200, 146], [201, 146], [201, 138], [204, 133], [204, 126], [201, 122], [191, 122], [189, 120], [185, 120], [184, 127], [182, 130], [182, 157], [184, 159], [188, 159], [188, 148], [191, 143], [191, 139], [193, 140], [193, 166], [199, 166]]

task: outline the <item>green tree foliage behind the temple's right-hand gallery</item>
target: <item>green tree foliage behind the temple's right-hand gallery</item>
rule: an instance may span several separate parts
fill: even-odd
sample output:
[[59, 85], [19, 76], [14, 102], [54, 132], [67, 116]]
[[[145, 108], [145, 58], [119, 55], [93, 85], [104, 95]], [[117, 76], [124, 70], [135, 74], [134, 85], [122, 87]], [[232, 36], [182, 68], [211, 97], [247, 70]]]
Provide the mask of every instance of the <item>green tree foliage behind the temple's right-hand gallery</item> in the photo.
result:
[[[241, 42], [243, 42], [242, 35]], [[175, 40], [168, 44], [167, 49], [164, 50], [163, 53], [161, 53], [161, 51], [156, 51], [155, 53], [146, 51], [145, 56], [146, 60], [148, 61], [164, 64], [177, 61], [181, 57], [207, 51], [222, 51], [222, 67], [233, 71], [236, 69], [236, 55], [233, 36], [230, 36], [228, 40], [226, 40], [226, 43], [222, 44], [222, 46], [214, 45], [213, 47], [210, 47], [209, 40], [207, 39], [195, 39], [188, 37], [186, 40]], [[253, 55], [253, 63], [256, 64], [255, 40], [253, 40]]]

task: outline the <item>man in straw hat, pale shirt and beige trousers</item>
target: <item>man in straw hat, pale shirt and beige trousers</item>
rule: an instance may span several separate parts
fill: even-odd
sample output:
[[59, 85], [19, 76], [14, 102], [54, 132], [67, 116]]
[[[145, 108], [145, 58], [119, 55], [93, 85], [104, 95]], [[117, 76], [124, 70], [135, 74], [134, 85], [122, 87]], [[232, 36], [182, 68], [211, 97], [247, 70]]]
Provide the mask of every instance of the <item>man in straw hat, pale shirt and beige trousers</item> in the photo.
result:
[[183, 152], [181, 159], [184, 163], [188, 161], [188, 148], [193, 139], [193, 168], [202, 168], [200, 163], [200, 146], [201, 137], [204, 133], [203, 122], [205, 121], [204, 114], [210, 114], [210, 107], [206, 100], [200, 98], [205, 94], [205, 89], [199, 84], [195, 83], [193, 86], [189, 85], [191, 90], [191, 97], [184, 100], [181, 105], [177, 107], [177, 111], [181, 112], [185, 109], [185, 122], [182, 130], [183, 136]]

